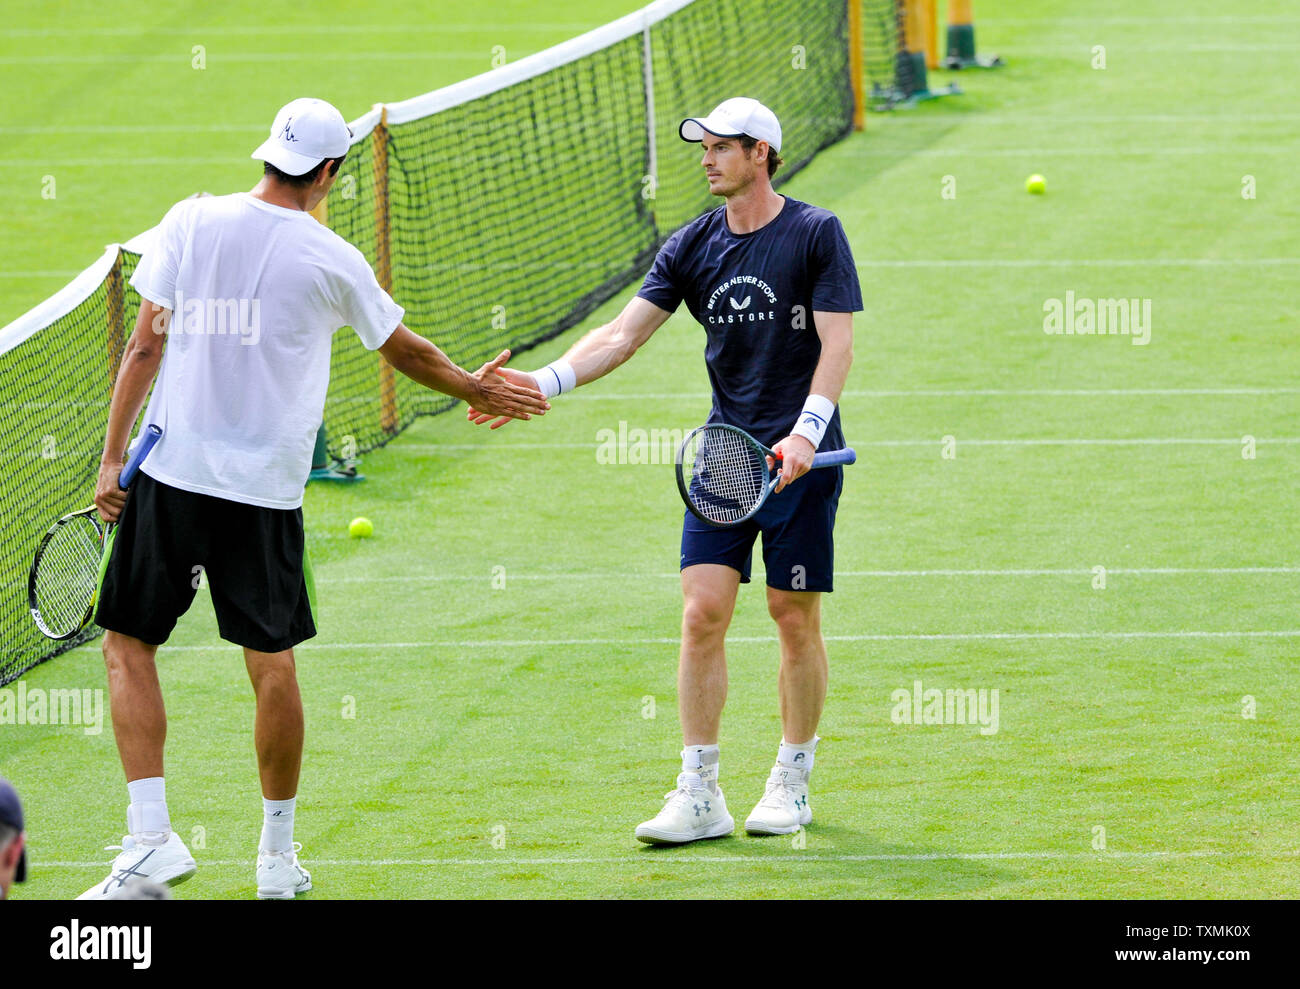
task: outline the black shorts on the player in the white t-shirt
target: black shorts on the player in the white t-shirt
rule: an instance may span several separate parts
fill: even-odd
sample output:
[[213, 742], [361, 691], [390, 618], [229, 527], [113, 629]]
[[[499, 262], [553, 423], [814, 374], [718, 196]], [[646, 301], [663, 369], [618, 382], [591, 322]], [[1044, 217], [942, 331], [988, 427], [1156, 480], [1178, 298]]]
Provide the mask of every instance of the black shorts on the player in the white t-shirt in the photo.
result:
[[261, 508], [136, 474], [100, 564], [95, 623], [166, 642], [207, 573], [221, 638], [280, 652], [316, 634], [302, 508]]

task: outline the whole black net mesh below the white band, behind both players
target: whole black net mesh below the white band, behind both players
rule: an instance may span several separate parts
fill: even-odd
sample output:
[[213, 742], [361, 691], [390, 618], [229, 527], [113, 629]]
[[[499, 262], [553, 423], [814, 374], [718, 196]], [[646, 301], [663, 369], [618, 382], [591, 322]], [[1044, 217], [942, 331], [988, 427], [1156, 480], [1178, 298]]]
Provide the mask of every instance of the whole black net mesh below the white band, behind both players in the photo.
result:
[[[784, 131], [779, 181], [849, 131], [848, 9], [844, 0], [699, 0], [654, 25], [654, 161], [637, 34], [377, 129], [348, 153], [326, 222], [381, 281], [387, 269], [406, 324], [456, 363], [473, 369], [502, 347], [525, 350], [644, 276], [664, 238], [716, 204], [698, 148], [677, 136], [682, 117], [729, 96], [767, 103]], [[896, 12], [892, 0], [863, 0], [864, 27], [884, 23], [881, 12]], [[897, 51], [893, 35], [864, 30], [868, 81]], [[26, 578], [46, 528], [91, 499], [110, 369], [139, 308], [125, 285], [136, 261], [124, 252], [120, 274], [0, 355], [0, 434], [17, 451], [0, 472], [0, 684], [99, 632], [44, 638], [27, 613]], [[385, 373], [350, 330], [335, 337], [330, 368], [325, 428], [335, 456], [372, 450], [454, 404]]]

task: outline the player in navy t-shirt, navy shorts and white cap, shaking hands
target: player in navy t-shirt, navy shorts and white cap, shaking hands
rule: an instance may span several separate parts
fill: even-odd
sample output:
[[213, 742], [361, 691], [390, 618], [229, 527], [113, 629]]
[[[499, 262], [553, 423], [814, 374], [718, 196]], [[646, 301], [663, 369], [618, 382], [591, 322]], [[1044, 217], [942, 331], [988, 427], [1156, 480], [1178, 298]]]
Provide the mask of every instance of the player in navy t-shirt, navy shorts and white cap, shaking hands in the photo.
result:
[[[684, 749], [677, 785], [640, 824], [644, 842], [676, 845], [734, 829], [718, 785], [718, 730], [727, 699], [727, 626], [750, 580], [762, 535], [767, 607], [776, 623], [783, 739], [763, 797], [745, 821], [751, 834], [788, 834], [812, 820], [809, 777], [826, 700], [822, 593], [832, 590], [841, 468], [809, 472], [814, 452], [845, 446], [836, 408], [853, 360], [853, 313], [862, 309], [857, 268], [836, 216], [772, 190], [781, 164], [776, 114], [731, 99], [682, 121], [703, 146], [708, 191], [725, 205], [688, 224], [659, 250], [637, 296], [563, 359], [533, 372], [502, 369], [543, 395], [571, 391], [614, 370], [681, 303], [705, 328], [712, 383], [710, 422], [740, 426], [781, 455], [776, 491], [749, 522], [705, 525], [689, 512], [681, 534], [681, 658], [677, 703]], [[474, 422], [508, 420], [471, 408]]]

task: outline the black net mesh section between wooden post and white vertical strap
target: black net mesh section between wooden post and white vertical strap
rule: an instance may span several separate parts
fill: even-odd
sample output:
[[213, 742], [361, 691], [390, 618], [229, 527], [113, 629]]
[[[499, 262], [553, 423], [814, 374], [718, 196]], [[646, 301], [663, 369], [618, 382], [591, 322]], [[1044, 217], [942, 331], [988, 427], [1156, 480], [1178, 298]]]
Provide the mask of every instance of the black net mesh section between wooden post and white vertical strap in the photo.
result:
[[[568, 329], [649, 264], [641, 39], [389, 139], [393, 294], [407, 325], [477, 368]], [[450, 399], [400, 378], [399, 421]]]

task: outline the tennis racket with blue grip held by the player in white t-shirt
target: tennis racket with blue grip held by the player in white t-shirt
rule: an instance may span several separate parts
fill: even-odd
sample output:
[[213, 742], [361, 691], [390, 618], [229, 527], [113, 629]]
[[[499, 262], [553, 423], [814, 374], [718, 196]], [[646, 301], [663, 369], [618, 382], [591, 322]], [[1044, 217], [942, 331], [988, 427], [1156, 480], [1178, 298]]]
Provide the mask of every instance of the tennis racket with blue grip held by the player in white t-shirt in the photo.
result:
[[[117, 476], [124, 491], [131, 486], [144, 457], [162, 437], [155, 425], [146, 428], [130, 460]], [[113, 524], [105, 526], [95, 506], [65, 515], [42, 537], [36, 559], [27, 574], [27, 606], [36, 628], [52, 639], [75, 636], [95, 611], [99, 590], [99, 563], [104, 539]]]

